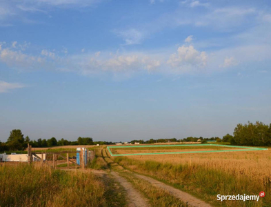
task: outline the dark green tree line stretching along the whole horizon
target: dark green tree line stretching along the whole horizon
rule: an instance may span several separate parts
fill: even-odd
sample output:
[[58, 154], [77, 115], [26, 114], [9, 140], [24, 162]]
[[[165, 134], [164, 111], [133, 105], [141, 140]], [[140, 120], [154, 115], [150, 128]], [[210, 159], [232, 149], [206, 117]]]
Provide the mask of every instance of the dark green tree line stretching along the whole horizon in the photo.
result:
[[[26, 149], [28, 143], [32, 145], [33, 148], [43, 148], [43, 147], [52, 147], [52, 146], [69, 146], [69, 145], [93, 145], [93, 144], [114, 144], [112, 141], [93, 141], [91, 137], [78, 137], [77, 141], [68, 141], [66, 139], [57, 140], [55, 137], [50, 139], [37, 139], [30, 140], [28, 136], [23, 137], [21, 130], [14, 129], [10, 132], [10, 137], [8, 141], [0, 141], [0, 152], [8, 150], [24, 150]], [[263, 122], [256, 121], [255, 124], [248, 121], [248, 124], [237, 124], [237, 127], [234, 128], [233, 136], [227, 134], [223, 138], [211, 137], [187, 137], [184, 139], [177, 140], [176, 138], [171, 139], [150, 139], [144, 141], [143, 139], [132, 140], [131, 144], [139, 142], [140, 144], [154, 144], [154, 143], [166, 143], [166, 142], [198, 142], [201, 140], [201, 143], [206, 141], [223, 141], [229, 142], [231, 145], [239, 146], [271, 146], [271, 124], [263, 124]]]

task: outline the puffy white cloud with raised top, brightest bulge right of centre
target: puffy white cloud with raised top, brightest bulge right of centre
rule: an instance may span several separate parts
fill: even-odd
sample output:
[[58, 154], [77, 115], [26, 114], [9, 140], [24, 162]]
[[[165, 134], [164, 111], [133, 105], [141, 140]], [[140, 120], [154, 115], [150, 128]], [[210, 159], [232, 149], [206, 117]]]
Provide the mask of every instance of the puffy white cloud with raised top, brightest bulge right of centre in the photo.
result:
[[206, 66], [208, 55], [206, 52], [199, 52], [193, 46], [181, 46], [177, 53], [174, 53], [168, 59], [168, 64], [174, 69], [188, 72], [197, 70]]

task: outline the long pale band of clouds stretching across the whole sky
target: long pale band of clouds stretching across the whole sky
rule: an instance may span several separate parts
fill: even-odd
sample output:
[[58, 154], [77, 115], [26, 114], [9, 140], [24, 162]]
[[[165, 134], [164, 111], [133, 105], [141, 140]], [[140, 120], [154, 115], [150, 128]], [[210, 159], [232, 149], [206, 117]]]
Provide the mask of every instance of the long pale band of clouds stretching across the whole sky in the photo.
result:
[[[6, 44], [3, 44], [0, 50], [0, 61], [17, 70], [50, 68], [50, 70], [77, 72], [83, 75], [217, 72], [225, 71], [239, 63], [249, 64], [270, 60], [269, 54], [271, 53], [268, 44], [259, 45], [255, 43], [251, 46], [242, 45], [219, 50], [209, 49], [210, 52], [207, 53], [203, 49], [199, 49], [196, 43], [194, 46], [186, 44], [180, 46], [177, 48], [177, 52], [172, 52], [172, 48], [167, 48], [159, 52], [157, 50], [155, 52], [152, 50], [145, 52], [120, 52], [117, 50], [117, 52], [112, 53], [108, 50], [102, 50], [92, 53], [81, 53], [79, 51], [77, 55], [68, 55], [55, 50], [52, 50], [53, 52], [39, 50], [40, 52], [37, 55], [30, 55], [26, 51], [20, 50], [19, 45], [17, 43], [17, 48], [11, 46], [5, 48]], [[32, 48], [30, 49], [33, 51]]]

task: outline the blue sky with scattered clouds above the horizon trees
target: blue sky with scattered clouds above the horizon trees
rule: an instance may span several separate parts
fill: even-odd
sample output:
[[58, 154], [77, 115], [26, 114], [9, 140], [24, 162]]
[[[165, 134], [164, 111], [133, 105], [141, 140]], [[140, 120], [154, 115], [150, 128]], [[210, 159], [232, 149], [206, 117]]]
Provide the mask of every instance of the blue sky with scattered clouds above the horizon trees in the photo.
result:
[[0, 141], [271, 123], [269, 0], [0, 0]]

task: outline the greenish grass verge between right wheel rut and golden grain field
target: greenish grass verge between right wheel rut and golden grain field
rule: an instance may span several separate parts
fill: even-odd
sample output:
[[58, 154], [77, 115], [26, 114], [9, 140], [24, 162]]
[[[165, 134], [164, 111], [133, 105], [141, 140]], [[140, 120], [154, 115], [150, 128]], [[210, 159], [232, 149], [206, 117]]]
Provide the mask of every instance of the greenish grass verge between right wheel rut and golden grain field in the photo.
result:
[[[197, 164], [170, 164], [158, 161], [139, 161], [127, 157], [116, 157], [114, 161], [124, 168], [149, 175], [175, 188], [212, 202], [215, 206], [270, 206], [271, 182], [259, 183], [248, 177], [234, 176], [219, 168], [208, 168]], [[220, 195], [259, 195], [264, 191], [267, 196], [259, 201], [217, 201]]]

